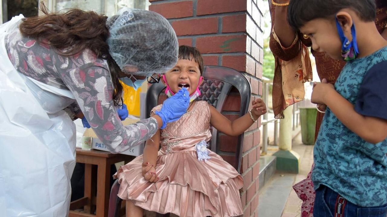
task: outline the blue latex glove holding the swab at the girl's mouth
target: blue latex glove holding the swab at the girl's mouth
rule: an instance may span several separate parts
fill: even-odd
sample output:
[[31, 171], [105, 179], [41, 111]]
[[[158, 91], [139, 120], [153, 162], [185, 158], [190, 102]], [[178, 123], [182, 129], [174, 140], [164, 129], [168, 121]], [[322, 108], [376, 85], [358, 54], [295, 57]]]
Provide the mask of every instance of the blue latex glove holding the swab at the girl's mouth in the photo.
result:
[[160, 129], [164, 129], [169, 122], [173, 122], [182, 117], [187, 112], [188, 105], [190, 104], [190, 94], [186, 88], [182, 88], [175, 95], [166, 99], [161, 107], [160, 111], [156, 111], [155, 114], [161, 117], [163, 125]]

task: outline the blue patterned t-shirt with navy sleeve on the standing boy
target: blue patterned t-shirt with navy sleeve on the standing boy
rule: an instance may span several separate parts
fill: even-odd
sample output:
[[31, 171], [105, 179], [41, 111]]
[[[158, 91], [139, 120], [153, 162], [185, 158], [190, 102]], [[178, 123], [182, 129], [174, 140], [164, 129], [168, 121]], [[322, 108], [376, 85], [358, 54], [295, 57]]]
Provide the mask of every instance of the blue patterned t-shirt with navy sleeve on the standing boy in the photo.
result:
[[[361, 115], [387, 120], [387, 47], [348, 62], [335, 89]], [[327, 108], [314, 147], [315, 190], [325, 185], [362, 207], [387, 203], [387, 139], [371, 144]]]

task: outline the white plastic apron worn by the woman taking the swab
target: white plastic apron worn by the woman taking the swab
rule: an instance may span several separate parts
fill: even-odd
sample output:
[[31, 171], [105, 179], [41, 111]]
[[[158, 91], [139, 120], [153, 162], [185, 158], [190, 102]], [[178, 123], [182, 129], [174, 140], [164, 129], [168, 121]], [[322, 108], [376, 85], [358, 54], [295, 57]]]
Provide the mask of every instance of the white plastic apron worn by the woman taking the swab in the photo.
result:
[[0, 216], [64, 217], [75, 166], [71, 92], [18, 73], [4, 46], [22, 15], [0, 25]]

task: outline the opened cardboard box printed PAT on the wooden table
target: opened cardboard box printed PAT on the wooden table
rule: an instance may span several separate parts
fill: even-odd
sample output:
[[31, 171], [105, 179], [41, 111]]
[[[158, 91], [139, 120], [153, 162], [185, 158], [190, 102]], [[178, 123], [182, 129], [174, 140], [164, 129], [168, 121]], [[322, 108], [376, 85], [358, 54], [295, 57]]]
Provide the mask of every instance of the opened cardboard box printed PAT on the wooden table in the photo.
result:
[[[127, 118], [124, 121], [122, 121], [123, 125], [129, 125], [134, 124], [135, 122], [139, 121], [140, 119], [135, 118]], [[83, 134], [84, 137], [91, 137], [91, 147], [92, 149], [97, 149], [101, 151], [109, 151], [105, 144], [101, 142], [101, 140], [98, 139], [97, 135], [94, 133], [94, 131], [91, 128], [86, 129], [86, 131]], [[144, 152], [144, 145], [140, 144], [138, 146], [131, 147], [130, 149], [122, 152], [121, 154], [127, 154], [132, 156], [139, 156]]]

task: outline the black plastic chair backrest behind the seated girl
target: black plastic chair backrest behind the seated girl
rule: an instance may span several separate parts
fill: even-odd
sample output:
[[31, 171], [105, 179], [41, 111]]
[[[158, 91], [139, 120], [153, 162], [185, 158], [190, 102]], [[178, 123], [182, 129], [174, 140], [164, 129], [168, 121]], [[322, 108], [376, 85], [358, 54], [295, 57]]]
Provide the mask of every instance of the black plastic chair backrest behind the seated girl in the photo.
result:
[[[224, 102], [226, 102], [226, 98], [229, 95], [231, 88], [234, 86], [241, 96], [239, 116], [247, 113], [248, 103], [250, 103], [251, 87], [245, 76], [236, 70], [223, 66], [205, 66], [202, 76], [204, 77], [204, 82], [199, 87], [201, 95], [197, 100], [207, 101], [221, 112]], [[150, 116], [152, 108], [158, 105], [159, 96], [164, 88], [165, 86], [161, 82], [154, 83], [149, 87], [146, 95], [147, 117]], [[240, 170], [243, 152], [243, 137], [244, 133], [238, 136], [235, 153], [236, 161], [233, 165], [238, 172]], [[217, 139], [217, 130], [212, 127], [212, 139], [210, 145], [211, 150], [214, 152], [217, 152]]]

